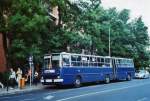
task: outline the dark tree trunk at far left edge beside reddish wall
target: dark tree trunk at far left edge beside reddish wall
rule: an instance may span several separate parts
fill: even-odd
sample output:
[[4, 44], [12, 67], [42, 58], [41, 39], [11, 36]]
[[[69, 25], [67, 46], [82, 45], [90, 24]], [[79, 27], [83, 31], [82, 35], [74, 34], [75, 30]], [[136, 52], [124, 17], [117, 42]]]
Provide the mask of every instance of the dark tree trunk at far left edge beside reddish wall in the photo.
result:
[[9, 67], [8, 40], [11, 34], [8, 32], [8, 20], [11, 15], [11, 5], [11, 0], [0, 0], [0, 34], [2, 34], [3, 47], [7, 59], [6, 67]]

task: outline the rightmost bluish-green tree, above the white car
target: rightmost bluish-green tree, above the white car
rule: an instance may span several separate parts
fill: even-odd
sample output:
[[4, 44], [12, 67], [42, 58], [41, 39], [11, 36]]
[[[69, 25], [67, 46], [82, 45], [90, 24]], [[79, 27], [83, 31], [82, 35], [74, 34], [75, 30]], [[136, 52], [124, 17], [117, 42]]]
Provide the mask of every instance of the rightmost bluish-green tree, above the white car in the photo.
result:
[[149, 60], [149, 53], [146, 50], [146, 48], [149, 46], [149, 37], [147, 32], [147, 27], [145, 26], [144, 22], [142, 21], [142, 18], [139, 17], [135, 20], [133, 20], [130, 23], [130, 29], [131, 33], [134, 36], [134, 39], [131, 43], [133, 47], [133, 53], [135, 63], [137, 67], [142, 66], [149, 66], [149, 64], [145, 64], [146, 61]]

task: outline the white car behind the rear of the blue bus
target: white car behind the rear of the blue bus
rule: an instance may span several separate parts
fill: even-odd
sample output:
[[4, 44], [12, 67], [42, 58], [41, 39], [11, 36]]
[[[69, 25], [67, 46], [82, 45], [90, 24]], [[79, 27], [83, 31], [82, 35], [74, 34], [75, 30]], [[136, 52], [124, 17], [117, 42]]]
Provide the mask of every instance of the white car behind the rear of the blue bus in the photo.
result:
[[150, 74], [147, 70], [138, 70], [135, 73], [135, 78], [146, 79], [149, 78]]

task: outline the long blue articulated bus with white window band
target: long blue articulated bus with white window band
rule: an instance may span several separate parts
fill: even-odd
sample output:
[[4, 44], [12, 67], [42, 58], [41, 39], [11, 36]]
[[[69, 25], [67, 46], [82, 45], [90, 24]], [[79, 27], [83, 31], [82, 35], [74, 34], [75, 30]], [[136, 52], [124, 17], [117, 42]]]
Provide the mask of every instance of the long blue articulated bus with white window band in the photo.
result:
[[44, 56], [41, 82], [80, 87], [87, 82], [131, 80], [134, 73], [132, 59], [61, 52]]

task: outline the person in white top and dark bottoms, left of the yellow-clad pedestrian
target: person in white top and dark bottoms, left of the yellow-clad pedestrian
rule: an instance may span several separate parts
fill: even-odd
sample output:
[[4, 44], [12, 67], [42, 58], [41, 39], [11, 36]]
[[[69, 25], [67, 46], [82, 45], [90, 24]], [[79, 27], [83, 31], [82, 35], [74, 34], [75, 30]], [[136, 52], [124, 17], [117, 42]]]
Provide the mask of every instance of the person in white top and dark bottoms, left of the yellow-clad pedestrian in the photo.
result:
[[16, 84], [16, 73], [13, 70], [13, 68], [10, 68], [9, 83], [10, 83], [11, 89], [13, 89]]

